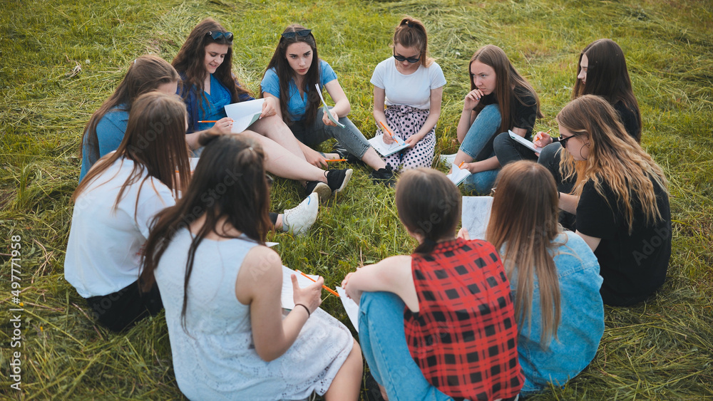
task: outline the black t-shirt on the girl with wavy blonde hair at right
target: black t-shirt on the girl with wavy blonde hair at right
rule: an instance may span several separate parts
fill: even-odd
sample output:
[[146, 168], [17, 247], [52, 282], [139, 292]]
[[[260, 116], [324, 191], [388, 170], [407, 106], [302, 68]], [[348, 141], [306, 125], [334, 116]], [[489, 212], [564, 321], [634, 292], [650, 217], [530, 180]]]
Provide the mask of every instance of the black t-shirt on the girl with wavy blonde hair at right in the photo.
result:
[[632, 199], [631, 234], [620, 203], [605, 182], [602, 182], [605, 197], [597, 193], [592, 180], [582, 190], [577, 205], [577, 230], [602, 239], [594, 254], [604, 278], [600, 292], [607, 305], [627, 306], [643, 301], [666, 278], [671, 256], [671, 210], [666, 192], [656, 182], [653, 184], [662, 220], [645, 224], [639, 199]]

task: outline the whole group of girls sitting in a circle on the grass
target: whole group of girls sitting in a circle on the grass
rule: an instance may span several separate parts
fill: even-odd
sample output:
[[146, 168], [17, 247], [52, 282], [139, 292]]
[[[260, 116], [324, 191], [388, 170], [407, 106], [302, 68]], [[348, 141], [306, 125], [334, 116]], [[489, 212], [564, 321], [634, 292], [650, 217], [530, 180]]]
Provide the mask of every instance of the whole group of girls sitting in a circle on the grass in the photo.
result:
[[[279, 38], [261, 118], [239, 135], [227, 135], [223, 106], [252, 96], [231, 72], [232, 33], [207, 19], [173, 66], [137, 58], [86, 126], [73, 194], [65, 276], [96, 320], [121, 331], [165, 308], [190, 399], [356, 400], [362, 352], [391, 400], [515, 400], [578, 375], [597, 352], [603, 305], [651, 296], [671, 251], [667, 180], [638, 143], [624, 55], [608, 39], [584, 49], [560, 135], [538, 132], [538, 157], [505, 133], [532, 139], [535, 90], [501, 48], [475, 53], [455, 161], [473, 173], [466, 187], [492, 189], [482, 241], [456, 235], [461, 193], [429, 168], [446, 80], [426, 44], [423, 24], [404, 18], [371, 77], [376, 122], [410, 145], [386, 159], [347, 118], [302, 26]], [[324, 115], [322, 88], [344, 128]], [[310, 147], [328, 138], [336, 155]], [[404, 170], [396, 209], [419, 244], [342, 281], [359, 303], [359, 343], [319, 309], [323, 278], [300, 288], [293, 275], [295, 306], [282, 309], [282, 261], [265, 245], [271, 229], [304, 234], [319, 197], [344, 189], [351, 169], [320, 168], [332, 157], [361, 160], [375, 181]], [[269, 213], [266, 172], [301, 182], [307, 199]]]

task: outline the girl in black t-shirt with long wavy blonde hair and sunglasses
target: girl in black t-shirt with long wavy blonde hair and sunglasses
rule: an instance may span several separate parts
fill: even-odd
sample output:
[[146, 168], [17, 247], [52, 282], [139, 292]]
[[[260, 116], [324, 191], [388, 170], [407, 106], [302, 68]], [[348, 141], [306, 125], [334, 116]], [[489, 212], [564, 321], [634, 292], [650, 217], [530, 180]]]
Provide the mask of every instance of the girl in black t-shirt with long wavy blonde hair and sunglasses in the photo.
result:
[[593, 249], [604, 278], [604, 303], [644, 300], [666, 278], [671, 211], [661, 167], [630, 137], [603, 98], [583, 95], [557, 115], [563, 146], [560, 171], [577, 173], [560, 208], [577, 217], [577, 234]]

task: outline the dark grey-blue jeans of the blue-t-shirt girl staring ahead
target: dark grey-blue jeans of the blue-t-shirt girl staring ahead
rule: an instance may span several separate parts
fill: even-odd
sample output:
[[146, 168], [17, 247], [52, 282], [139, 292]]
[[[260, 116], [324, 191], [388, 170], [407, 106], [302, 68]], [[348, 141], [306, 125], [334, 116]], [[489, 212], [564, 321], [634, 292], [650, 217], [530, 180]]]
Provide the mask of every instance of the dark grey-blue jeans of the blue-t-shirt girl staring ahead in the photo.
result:
[[366, 153], [366, 150], [369, 150], [371, 145], [366, 141], [364, 134], [359, 131], [359, 128], [346, 117], [339, 118], [339, 123], [344, 124], [344, 128], [325, 125], [322, 122], [322, 115], [324, 115], [324, 109], [319, 108], [317, 109], [317, 115], [314, 117], [312, 124], [307, 125], [304, 123], [304, 120], [295, 121], [292, 125], [289, 125], [289, 129], [292, 130], [294, 137], [296, 137], [299, 142], [307, 146], [319, 145], [329, 138], [334, 138], [339, 141], [349, 153], [359, 157], [359, 160], [361, 160], [361, 157], [364, 157], [364, 153]]

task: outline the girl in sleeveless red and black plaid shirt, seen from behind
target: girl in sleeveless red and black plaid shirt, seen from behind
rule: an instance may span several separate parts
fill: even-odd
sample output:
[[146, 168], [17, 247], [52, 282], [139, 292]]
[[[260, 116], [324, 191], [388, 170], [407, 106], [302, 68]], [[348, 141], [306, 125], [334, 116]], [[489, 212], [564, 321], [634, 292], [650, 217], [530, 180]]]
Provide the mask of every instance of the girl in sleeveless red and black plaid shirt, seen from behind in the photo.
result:
[[[424, 197], [423, 194], [429, 194]], [[371, 375], [390, 400], [513, 400], [524, 382], [510, 283], [496, 249], [453, 234], [461, 194], [445, 175], [401, 175], [396, 208], [419, 241], [344, 278], [359, 302]]]

